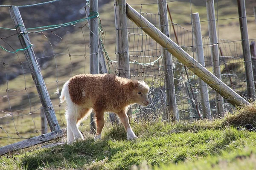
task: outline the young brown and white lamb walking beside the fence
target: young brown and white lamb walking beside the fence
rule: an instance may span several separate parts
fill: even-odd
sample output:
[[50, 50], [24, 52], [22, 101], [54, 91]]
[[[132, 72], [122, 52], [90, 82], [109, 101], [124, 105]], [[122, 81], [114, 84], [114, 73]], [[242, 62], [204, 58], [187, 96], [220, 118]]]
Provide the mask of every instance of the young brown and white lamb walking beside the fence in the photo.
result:
[[83, 139], [79, 123], [94, 110], [97, 131], [95, 140], [101, 139], [105, 126], [104, 113], [116, 113], [125, 127], [127, 139], [136, 139], [129, 124], [127, 111], [135, 103], [147, 106], [149, 87], [143, 81], [117, 77], [113, 74], [80, 74], [63, 85], [61, 103], [66, 100], [67, 143]]

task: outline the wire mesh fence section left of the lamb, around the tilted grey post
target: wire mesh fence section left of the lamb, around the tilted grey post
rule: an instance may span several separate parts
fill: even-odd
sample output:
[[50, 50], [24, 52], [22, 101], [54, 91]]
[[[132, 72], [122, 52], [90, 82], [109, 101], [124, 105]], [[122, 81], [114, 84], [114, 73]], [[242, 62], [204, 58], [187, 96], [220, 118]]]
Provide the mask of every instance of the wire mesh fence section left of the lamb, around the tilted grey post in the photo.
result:
[[[67, 79], [89, 70], [88, 19], [90, 17], [84, 15], [82, 19], [66, 23], [27, 28], [32, 42], [29, 48], [35, 51], [44, 77], [45, 84], [42, 86], [48, 89], [52, 109], [55, 110], [61, 128], [66, 127], [66, 120], [65, 105], [59, 104], [59, 91]], [[41, 101], [23, 54], [24, 49], [20, 48], [17, 38], [19, 34], [15, 29], [0, 31], [0, 35], [5, 35], [0, 42], [0, 146], [4, 146], [41, 135], [44, 129], [41, 129]], [[84, 122], [87, 126], [89, 123]], [[46, 132], [50, 132], [49, 125]]]

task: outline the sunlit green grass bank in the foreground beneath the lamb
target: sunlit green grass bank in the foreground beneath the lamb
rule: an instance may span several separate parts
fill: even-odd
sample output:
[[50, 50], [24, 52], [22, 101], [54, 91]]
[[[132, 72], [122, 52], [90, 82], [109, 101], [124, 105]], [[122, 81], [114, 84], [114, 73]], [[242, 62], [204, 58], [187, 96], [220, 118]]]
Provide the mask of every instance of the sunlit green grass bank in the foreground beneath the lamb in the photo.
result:
[[246, 169], [247, 162], [255, 166], [256, 133], [236, 127], [255, 123], [255, 113], [253, 105], [212, 122], [131, 122], [136, 141], [126, 140], [122, 125], [107, 126], [101, 141], [84, 133], [84, 141], [71, 145], [1, 156], [0, 169]]

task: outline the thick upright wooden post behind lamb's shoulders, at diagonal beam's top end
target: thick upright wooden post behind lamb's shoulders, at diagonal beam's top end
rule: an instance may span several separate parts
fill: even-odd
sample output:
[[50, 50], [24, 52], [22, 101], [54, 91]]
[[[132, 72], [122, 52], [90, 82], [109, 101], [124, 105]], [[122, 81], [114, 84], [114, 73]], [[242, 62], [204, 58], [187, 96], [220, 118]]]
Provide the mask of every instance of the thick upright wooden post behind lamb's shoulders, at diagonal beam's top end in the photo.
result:
[[[126, 23], [126, 0], [114, 0], [118, 74], [130, 79], [130, 57]], [[131, 118], [131, 108], [127, 115]]]

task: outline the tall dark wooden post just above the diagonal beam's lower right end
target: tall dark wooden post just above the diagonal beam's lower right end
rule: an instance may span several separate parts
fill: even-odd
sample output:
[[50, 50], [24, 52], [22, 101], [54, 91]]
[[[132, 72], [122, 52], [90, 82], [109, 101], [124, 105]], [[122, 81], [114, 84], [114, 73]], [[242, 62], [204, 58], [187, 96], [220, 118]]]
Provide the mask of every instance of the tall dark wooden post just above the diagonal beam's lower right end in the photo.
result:
[[249, 45], [249, 36], [248, 36], [248, 28], [247, 28], [245, 1], [237, 0], [237, 6], [238, 6], [243, 54], [244, 54], [246, 81], [247, 81], [247, 88], [248, 88], [247, 92], [249, 94], [249, 97], [251, 99], [253, 99], [253, 101], [254, 101], [256, 94], [255, 94], [254, 79], [253, 79], [253, 65], [252, 65], [252, 60], [251, 60], [251, 55], [250, 55], [250, 45]]

